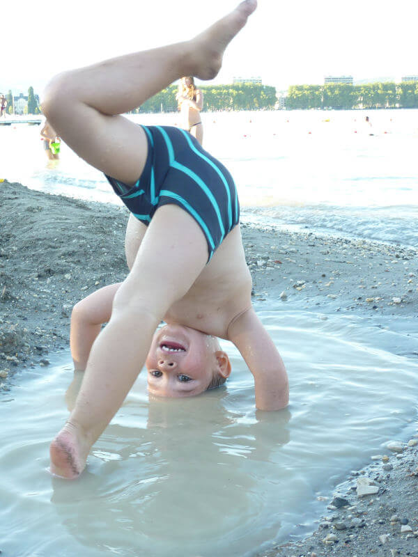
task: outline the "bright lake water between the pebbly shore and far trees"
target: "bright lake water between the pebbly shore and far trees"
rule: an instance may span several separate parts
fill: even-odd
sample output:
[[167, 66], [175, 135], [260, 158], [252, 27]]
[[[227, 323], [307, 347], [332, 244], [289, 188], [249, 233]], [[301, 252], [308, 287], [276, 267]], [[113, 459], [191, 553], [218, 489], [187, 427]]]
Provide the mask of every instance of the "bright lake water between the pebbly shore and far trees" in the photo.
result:
[[[177, 114], [130, 118], [179, 124]], [[205, 147], [231, 170], [244, 220], [418, 247], [418, 110], [202, 113], [202, 119]], [[38, 126], [0, 126], [0, 152], [0, 178], [118, 203], [103, 175], [66, 146], [59, 164], [48, 164]]]

